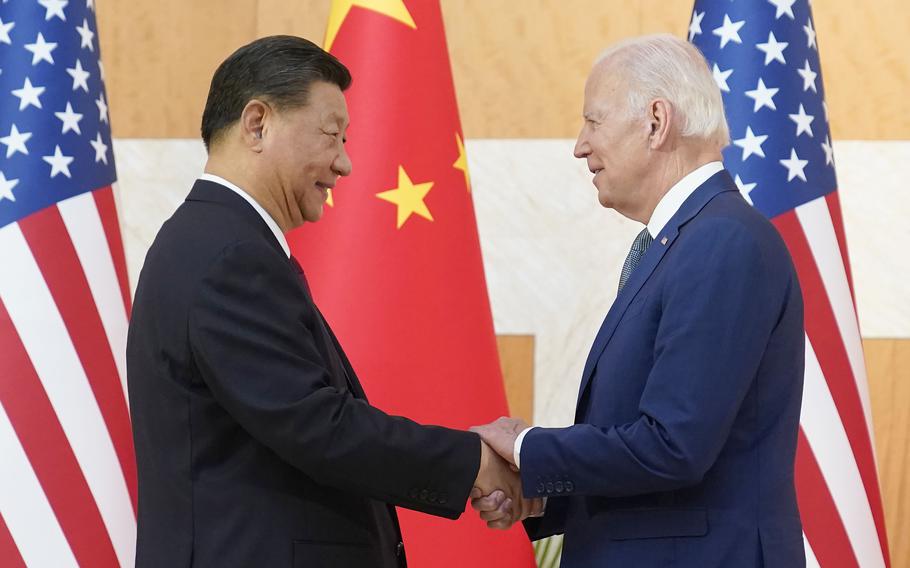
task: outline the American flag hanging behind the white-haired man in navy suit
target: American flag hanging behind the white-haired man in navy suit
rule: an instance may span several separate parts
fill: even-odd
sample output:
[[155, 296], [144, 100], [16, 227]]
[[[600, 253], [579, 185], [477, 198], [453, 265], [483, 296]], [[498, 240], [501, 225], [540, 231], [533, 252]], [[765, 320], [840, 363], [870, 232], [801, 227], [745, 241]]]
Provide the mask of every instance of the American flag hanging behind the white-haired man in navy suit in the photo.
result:
[[869, 392], [808, 0], [697, 0], [689, 40], [723, 93], [724, 164], [783, 235], [806, 306], [796, 485], [808, 566], [889, 565]]

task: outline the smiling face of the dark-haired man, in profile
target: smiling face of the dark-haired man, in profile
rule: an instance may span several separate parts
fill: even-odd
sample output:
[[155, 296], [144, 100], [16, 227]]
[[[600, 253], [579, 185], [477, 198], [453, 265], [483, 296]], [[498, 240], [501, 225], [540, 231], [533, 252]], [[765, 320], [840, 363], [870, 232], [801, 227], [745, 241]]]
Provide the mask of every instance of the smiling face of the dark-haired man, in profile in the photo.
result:
[[318, 81], [302, 107], [272, 111], [264, 128], [262, 155], [274, 198], [298, 227], [322, 217], [328, 190], [351, 173], [344, 148], [348, 109], [337, 85]]

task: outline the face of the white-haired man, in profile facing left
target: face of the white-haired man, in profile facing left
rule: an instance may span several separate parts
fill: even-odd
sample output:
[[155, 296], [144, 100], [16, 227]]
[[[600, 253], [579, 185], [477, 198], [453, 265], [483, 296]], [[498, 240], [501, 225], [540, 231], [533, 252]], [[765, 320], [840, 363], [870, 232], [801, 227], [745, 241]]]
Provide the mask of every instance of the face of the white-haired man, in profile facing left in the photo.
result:
[[600, 204], [635, 218], [648, 170], [650, 131], [644, 118], [633, 116], [639, 109], [628, 112], [626, 89], [616, 65], [605, 61], [594, 67], [585, 84], [585, 122], [575, 157], [585, 159], [594, 173]]

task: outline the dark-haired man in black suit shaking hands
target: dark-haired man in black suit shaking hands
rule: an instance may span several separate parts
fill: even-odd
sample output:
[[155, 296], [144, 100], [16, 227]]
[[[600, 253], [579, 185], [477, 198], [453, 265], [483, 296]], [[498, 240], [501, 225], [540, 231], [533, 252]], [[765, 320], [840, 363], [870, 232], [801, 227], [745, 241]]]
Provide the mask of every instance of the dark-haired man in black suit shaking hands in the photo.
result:
[[400, 567], [393, 505], [454, 519], [472, 488], [520, 497], [476, 434], [369, 405], [290, 257], [284, 232], [351, 171], [350, 82], [287, 36], [215, 72], [206, 174], [149, 250], [130, 323], [139, 567]]

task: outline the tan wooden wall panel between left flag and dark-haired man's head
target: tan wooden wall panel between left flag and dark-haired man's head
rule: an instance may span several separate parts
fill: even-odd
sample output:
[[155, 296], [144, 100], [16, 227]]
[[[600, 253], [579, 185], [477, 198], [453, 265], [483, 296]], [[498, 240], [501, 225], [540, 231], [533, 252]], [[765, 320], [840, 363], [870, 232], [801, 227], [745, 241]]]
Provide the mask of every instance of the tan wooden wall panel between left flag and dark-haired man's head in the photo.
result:
[[225, 56], [256, 35], [256, 0], [98, 0], [114, 136], [198, 138]]

